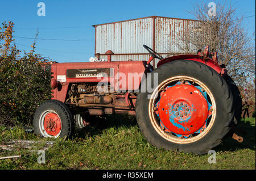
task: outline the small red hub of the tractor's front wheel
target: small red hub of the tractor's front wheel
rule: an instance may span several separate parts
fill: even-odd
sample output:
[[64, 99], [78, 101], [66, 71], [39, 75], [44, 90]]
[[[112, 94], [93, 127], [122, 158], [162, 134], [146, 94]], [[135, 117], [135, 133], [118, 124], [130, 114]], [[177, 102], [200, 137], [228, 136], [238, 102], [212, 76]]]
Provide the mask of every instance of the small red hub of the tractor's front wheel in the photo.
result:
[[47, 113], [44, 117], [44, 129], [51, 136], [56, 136], [61, 130], [60, 117], [56, 113]]

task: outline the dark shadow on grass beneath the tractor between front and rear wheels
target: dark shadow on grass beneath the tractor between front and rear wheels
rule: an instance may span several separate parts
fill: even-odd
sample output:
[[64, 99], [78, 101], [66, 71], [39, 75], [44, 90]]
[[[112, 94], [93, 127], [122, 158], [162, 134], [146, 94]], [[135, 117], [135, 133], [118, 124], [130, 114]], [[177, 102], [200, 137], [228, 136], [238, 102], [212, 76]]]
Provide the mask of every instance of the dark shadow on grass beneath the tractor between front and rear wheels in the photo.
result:
[[121, 127], [130, 128], [137, 125], [136, 118], [134, 116], [127, 115], [108, 115], [106, 117], [97, 118], [94, 120], [98, 122], [96, 125], [89, 125], [84, 128], [76, 128], [73, 138], [85, 138], [86, 136], [100, 135], [105, 129]]

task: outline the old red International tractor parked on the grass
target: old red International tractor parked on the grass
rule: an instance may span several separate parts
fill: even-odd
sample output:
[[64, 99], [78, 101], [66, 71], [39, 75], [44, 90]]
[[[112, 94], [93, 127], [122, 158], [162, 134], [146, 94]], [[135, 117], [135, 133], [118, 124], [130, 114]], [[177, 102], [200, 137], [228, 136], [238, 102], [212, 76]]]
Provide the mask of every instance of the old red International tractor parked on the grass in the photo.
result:
[[[143, 47], [148, 61], [111, 61], [110, 53], [105, 62], [52, 64], [52, 99], [36, 110], [35, 133], [69, 138], [75, 125], [95, 121], [90, 116], [122, 113], [135, 115], [158, 148], [205, 154], [219, 145], [241, 119], [242, 103], [217, 53], [207, 46], [163, 58]], [[160, 60], [156, 69], [154, 58]]]

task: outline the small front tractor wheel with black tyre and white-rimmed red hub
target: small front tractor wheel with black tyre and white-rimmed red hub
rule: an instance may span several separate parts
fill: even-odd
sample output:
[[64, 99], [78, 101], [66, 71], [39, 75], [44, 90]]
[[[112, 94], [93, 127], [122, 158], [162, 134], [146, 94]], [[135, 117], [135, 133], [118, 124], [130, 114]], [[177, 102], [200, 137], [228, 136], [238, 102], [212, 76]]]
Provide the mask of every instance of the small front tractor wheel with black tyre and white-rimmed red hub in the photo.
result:
[[42, 137], [71, 137], [73, 118], [69, 108], [59, 100], [46, 100], [34, 114], [35, 133]]

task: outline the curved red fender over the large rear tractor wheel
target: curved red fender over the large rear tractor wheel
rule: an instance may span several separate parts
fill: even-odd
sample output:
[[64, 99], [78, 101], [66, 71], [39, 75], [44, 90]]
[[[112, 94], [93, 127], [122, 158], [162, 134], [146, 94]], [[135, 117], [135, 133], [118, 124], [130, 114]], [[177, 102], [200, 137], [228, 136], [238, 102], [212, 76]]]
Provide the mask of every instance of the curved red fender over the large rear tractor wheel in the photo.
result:
[[171, 62], [171, 61], [175, 61], [175, 60], [184, 60], [184, 61], [192, 60], [192, 61], [201, 62], [201, 63], [209, 66], [213, 70], [217, 71], [218, 74], [222, 75], [222, 74], [226, 73], [224, 71], [224, 69], [221, 69], [220, 65], [218, 65], [216, 62], [214, 62], [211, 58], [206, 57], [206, 56], [200, 56], [198, 54], [179, 54], [176, 56], [164, 58], [158, 62], [157, 68], [159, 68], [159, 66], [162, 66], [163, 64], [166, 64], [167, 62]]

